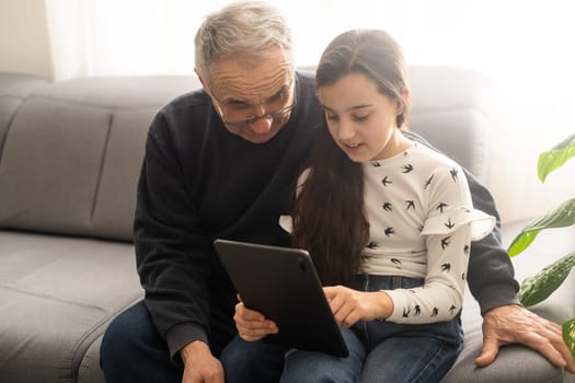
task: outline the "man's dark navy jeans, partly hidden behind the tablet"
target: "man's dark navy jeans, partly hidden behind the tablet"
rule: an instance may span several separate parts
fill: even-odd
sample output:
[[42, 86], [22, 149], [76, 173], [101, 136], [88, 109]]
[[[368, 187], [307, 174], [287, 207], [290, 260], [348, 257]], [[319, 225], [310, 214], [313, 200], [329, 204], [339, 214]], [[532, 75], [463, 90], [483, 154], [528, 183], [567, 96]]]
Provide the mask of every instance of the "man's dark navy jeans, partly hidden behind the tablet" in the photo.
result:
[[[248, 351], [238, 349], [241, 346], [239, 341], [230, 343], [234, 329], [227, 325], [218, 326], [217, 323], [221, 322], [212, 321], [210, 332], [209, 346], [214, 356], [225, 367], [231, 364], [230, 360], [242, 360], [241, 363], [233, 363], [233, 371], [225, 371], [228, 383], [279, 380], [285, 348], [261, 343]], [[184, 371], [180, 358], [170, 358], [168, 345], [156, 330], [143, 301], [119, 314], [106, 328], [100, 349], [100, 365], [106, 383], [181, 383]], [[238, 375], [243, 381], [230, 380], [229, 374]]]

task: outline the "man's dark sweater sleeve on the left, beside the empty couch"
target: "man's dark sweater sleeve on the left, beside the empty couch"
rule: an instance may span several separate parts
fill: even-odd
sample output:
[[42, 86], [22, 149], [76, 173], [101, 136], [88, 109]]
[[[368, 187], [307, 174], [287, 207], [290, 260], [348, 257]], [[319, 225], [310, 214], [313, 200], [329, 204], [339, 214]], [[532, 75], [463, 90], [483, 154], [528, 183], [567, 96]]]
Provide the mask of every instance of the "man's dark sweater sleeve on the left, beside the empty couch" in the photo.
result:
[[208, 242], [175, 152], [159, 114], [146, 143], [134, 240], [145, 302], [172, 357], [193, 340], [207, 341], [209, 318]]

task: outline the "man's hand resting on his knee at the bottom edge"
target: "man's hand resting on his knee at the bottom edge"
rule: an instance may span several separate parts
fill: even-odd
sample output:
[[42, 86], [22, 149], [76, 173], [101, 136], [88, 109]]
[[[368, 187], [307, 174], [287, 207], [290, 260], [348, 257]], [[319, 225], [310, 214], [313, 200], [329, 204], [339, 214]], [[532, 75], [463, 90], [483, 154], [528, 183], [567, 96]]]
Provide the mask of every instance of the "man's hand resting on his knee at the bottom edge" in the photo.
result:
[[180, 355], [184, 361], [182, 383], [223, 383], [223, 367], [204, 341], [192, 341]]

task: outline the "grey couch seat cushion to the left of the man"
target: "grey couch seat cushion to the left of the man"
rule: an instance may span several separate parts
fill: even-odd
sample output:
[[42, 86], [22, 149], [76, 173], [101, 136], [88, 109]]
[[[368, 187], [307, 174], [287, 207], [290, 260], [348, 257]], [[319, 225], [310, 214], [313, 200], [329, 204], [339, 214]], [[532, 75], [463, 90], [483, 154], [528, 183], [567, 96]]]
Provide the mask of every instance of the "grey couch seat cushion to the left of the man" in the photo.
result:
[[8, 231], [0, 243], [1, 380], [76, 376], [111, 318], [142, 298], [134, 246]]

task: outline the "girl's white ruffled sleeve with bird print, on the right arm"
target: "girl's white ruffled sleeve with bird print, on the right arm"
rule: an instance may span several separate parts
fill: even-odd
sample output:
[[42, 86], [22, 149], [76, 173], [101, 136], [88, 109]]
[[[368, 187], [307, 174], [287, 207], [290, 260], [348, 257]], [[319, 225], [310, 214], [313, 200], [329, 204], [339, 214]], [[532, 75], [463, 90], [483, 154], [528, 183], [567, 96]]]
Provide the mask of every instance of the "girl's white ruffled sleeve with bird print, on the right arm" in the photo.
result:
[[453, 318], [462, 305], [470, 243], [487, 235], [495, 224], [493, 217], [473, 209], [460, 169], [438, 169], [434, 178], [429, 216], [421, 233], [427, 251], [425, 283], [386, 291], [394, 306], [388, 318], [391, 322], [421, 324]]

